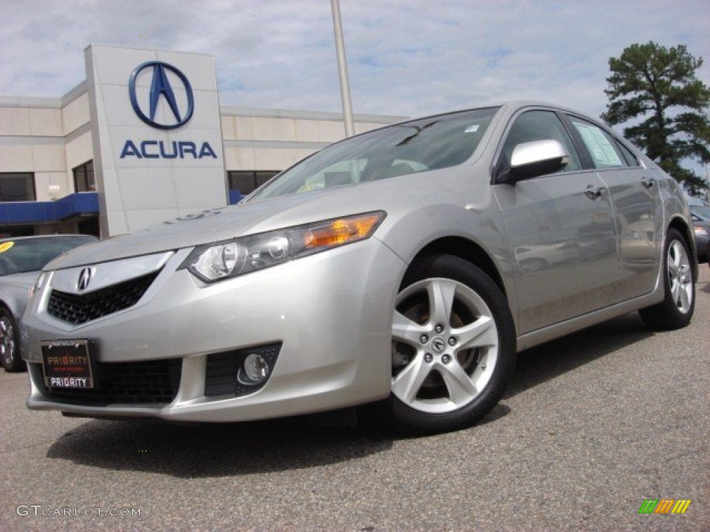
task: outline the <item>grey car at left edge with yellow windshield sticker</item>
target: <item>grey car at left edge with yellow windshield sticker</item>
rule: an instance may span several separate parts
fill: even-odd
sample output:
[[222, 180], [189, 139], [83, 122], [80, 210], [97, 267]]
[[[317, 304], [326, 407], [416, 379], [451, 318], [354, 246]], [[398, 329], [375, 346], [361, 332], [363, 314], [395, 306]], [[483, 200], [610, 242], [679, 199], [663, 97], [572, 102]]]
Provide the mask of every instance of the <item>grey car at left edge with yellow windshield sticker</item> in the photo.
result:
[[42, 268], [62, 253], [96, 241], [90, 235], [0, 238], [0, 364], [6, 371], [25, 367], [18, 322]]

